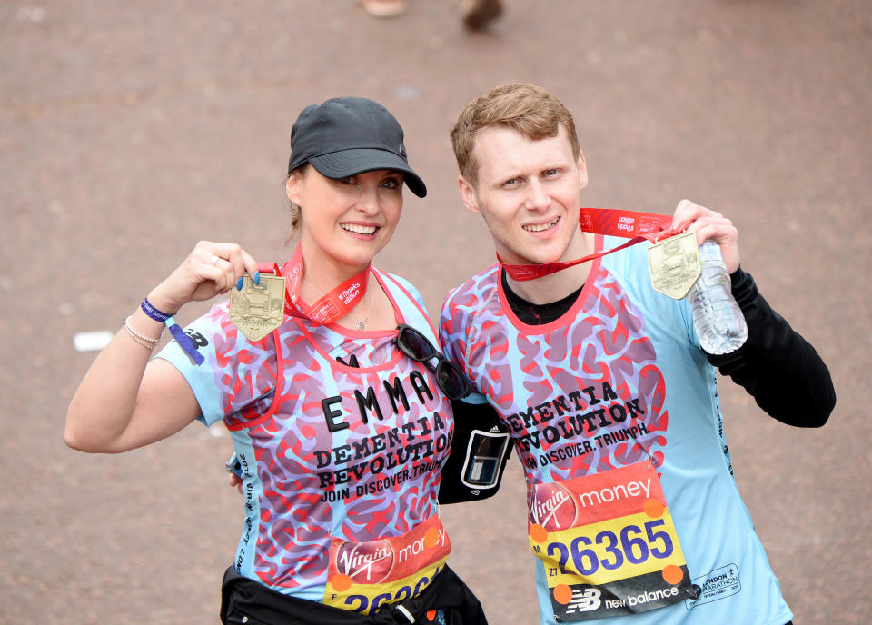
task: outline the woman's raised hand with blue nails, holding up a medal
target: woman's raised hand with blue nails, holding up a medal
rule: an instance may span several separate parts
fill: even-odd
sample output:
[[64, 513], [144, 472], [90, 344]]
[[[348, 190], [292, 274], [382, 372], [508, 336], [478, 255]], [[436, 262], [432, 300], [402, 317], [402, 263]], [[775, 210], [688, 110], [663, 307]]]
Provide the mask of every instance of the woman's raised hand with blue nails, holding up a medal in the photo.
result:
[[164, 313], [176, 313], [188, 302], [203, 302], [241, 286], [246, 272], [259, 282], [257, 263], [242, 247], [201, 241], [163, 283], [154, 287], [148, 300]]

